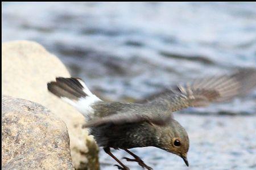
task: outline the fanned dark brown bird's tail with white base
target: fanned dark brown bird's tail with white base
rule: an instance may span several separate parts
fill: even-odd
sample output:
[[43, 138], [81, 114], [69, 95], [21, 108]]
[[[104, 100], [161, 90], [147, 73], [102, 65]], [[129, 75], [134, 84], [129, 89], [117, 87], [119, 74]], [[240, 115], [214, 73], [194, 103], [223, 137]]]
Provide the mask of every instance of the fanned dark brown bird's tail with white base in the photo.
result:
[[55, 81], [47, 83], [47, 88], [53, 95], [73, 105], [86, 117], [93, 113], [92, 105], [101, 101], [79, 78], [58, 77]]

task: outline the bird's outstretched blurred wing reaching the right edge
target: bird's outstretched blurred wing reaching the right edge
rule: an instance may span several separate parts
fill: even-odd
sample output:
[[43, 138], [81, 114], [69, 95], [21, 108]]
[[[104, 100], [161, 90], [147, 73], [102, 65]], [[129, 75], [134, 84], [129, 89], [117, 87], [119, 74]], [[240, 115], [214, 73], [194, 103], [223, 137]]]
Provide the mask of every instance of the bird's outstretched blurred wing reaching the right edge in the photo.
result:
[[212, 76], [179, 84], [171, 90], [148, 97], [150, 103], [168, 105], [172, 112], [188, 107], [204, 107], [245, 95], [256, 86], [256, 70], [246, 69], [232, 75]]

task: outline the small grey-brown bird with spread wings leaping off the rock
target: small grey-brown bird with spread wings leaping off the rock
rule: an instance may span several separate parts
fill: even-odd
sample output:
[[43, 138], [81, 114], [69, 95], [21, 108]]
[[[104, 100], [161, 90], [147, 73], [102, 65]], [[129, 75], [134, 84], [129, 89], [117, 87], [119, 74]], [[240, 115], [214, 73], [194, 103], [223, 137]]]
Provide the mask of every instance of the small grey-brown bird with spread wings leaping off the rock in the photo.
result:
[[188, 166], [188, 134], [174, 120], [172, 112], [188, 107], [205, 107], [210, 103], [232, 100], [256, 86], [256, 71], [242, 69], [232, 75], [211, 76], [191, 83], [178, 84], [142, 103], [107, 102], [92, 94], [80, 78], [56, 78], [48, 90], [73, 105], [86, 118], [98, 146], [119, 163], [118, 169], [129, 169], [110, 148], [125, 150], [141, 167], [148, 167], [129, 148], [158, 147], [180, 156]]

